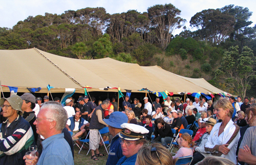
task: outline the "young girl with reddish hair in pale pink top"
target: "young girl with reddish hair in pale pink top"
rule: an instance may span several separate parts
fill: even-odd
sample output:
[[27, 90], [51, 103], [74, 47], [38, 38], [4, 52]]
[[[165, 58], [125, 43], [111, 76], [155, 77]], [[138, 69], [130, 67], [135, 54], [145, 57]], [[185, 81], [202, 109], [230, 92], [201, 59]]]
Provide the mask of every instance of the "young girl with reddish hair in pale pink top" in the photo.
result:
[[194, 146], [194, 142], [192, 142], [192, 137], [188, 133], [183, 133], [179, 139], [180, 149], [177, 154], [173, 156], [173, 159], [184, 156], [193, 156], [192, 147]]

